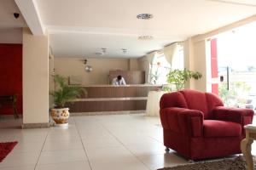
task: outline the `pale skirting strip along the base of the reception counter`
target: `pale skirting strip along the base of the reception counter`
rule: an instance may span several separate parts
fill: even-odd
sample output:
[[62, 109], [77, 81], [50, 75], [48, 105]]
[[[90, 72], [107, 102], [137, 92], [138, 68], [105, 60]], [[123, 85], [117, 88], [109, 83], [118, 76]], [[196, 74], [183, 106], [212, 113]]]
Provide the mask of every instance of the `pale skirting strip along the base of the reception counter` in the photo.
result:
[[97, 115], [126, 115], [143, 114], [146, 111], [96, 111], [96, 112], [72, 112], [70, 116], [97, 116]]

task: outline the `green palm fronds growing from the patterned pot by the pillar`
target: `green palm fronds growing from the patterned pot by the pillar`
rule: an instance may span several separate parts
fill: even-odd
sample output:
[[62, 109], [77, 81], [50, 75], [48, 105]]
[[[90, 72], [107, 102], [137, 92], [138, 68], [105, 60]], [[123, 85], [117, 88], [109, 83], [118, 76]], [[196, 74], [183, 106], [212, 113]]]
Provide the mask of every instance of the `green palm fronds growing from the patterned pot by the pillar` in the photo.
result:
[[67, 77], [61, 77], [60, 75], [55, 75], [54, 81], [57, 85], [57, 90], [50, 92], [49, 94], [54, 97], [55, 108], [63, 108], [68, 101], [76, 99], [79, 96], [81, 87], [69, 86], [67, 84]]

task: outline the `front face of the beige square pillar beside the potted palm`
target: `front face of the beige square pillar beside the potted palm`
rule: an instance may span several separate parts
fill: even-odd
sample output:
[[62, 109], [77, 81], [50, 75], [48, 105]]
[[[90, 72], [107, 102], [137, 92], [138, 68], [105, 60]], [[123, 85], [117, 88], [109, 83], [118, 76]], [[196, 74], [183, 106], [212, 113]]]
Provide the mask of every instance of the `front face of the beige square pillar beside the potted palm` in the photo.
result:
[[49, 122], [48, 36], [23, 29], [23, 123]]

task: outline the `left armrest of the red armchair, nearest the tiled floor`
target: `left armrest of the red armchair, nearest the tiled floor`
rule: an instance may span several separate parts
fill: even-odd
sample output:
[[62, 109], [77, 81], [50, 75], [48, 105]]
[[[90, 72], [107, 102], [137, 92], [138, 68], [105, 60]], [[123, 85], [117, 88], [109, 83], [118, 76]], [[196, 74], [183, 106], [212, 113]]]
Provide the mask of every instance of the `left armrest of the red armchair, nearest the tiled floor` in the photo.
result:
[[160, 120], [164, 128], [193, 137], [201, 136], [203, 119], [201, 111], [178, 107], [160, 110]]

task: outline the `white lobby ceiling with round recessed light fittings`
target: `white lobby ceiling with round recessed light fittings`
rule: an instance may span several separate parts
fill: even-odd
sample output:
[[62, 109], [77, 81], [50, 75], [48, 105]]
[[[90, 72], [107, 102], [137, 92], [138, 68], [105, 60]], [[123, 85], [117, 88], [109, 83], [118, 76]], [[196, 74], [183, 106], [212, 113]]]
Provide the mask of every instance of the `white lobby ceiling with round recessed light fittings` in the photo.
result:
[[[31, 2], [31, 0], [22, 2], [28, 1]], [[42, 25], [49, 31], [49, 44], [55, 57], [99, 57], [95, 53], [101, 52], [101, 48], [108, 48], [107, 53], [101, 57], [130, 58], [143, 56], [169, 43], [182, 41], [256, 14], [256, 6], [252, 0], [240, 0], [239, 4], [237, 0], [235, 3], [223, 3], [223, 1], [34, 0], [32, 2], [37, 8]], [[23, 14], [24, 10], [21, 12]], [[137, 20], [137, 14], [142, 13], [153, 14], [154, 18]], [[28, 24], [28, 26], [32, 25]], [[137, 36], [142, 34], [149, 34], [154, 40], [138, 41]], [[127, 48], [128, 53], [123, 54], [121, 48]]]

